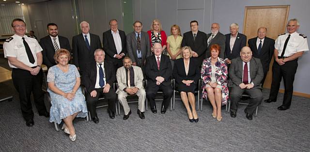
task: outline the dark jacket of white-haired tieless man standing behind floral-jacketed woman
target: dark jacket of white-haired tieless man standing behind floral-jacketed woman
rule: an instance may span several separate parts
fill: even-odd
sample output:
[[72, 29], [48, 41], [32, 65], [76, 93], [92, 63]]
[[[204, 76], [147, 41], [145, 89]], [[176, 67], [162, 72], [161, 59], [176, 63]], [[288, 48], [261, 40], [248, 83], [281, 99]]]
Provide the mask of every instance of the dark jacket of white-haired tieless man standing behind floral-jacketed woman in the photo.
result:
[[[238, 32], [236, 41], [233, 45], [233, 51], [231, 50], [230, 41], [231, 41], [231, 33], [226, 34], [225, 41], [225, 54], [224, 59], [232, 60], [234, 58], [240, 57], [240, 50], [242, 47], [247, 45], [247, 36]], [[231, 53], [232, 52], [232, 53]]]

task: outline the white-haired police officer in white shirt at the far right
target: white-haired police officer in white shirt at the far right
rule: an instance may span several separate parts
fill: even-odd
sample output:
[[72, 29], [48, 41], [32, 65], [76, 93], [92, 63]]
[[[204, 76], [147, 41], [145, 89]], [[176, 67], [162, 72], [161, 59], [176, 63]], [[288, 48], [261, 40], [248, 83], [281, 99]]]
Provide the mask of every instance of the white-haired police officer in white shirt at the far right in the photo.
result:
[[281, 34], [276, 40], [274, 57], [275, 62], [272, 67], [272, 83], [269, 99], [266, 103], [276, 102], [279, 92], [281, 78], [285, 84], [283, 103], [278, 107], [279, 110], [290, 108], [293, 95], [294, 76], [297, 70], [297, 60], [303, 55], [304, 51], [308, 51], [307, 37], [296, 31], [299, 28], [297, 19], [290, 19], [287, 23], [288, 33]]

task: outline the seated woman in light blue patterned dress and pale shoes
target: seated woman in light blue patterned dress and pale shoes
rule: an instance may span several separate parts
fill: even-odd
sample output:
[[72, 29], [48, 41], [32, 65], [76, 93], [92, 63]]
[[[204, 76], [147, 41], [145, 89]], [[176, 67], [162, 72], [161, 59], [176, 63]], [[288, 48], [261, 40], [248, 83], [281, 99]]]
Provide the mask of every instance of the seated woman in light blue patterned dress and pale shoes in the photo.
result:
[[49, 68], [47, 74], [48, 92], [51, 97], [49, 122], [60, 124], [62, 129], [70, 134], [72, 141], [76, 140], [73, 120], [76, 117], [87, 116], [85, 97], [82, 94], [80, 76], [75, 65], [68, 64], [70, 52], [66, 49], [58, 49], [54, 55], [57, 65]]

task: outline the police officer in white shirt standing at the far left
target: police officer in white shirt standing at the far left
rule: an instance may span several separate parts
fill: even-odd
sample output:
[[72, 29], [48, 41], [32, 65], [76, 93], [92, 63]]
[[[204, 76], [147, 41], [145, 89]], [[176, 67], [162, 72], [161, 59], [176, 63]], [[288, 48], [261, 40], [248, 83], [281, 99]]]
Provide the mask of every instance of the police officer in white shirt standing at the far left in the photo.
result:
[[4, 57], [13, 69], [12, 80], [19, 92], [21, 112], [26, 125], [31, 127], [34, 125], [31, 92], [39, 115], [49, 117], [42, 92], [42, 48], [34, 37], [25, 35], [26, 23], [22, 19], [14, 19], [12, 29], [15, 34], [3, 44]]

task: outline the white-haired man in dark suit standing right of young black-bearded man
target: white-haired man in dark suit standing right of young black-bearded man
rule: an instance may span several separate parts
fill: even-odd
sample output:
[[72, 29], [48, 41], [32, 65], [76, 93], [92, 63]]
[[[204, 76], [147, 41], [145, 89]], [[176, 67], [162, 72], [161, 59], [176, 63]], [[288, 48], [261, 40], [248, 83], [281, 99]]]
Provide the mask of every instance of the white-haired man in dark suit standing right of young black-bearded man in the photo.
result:
[[80, 27], [82, 33], [72, 38], [72, 50], [73, 62], [83, 76], [83, 72], [86, 71], [86, 65], [93, 62], [94, 51], [97, 48], [101, 48], [101, 42], [98, 35], [89, 32], [89, 23], [82, 21]]

